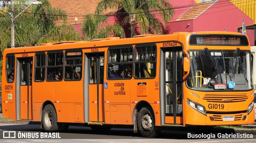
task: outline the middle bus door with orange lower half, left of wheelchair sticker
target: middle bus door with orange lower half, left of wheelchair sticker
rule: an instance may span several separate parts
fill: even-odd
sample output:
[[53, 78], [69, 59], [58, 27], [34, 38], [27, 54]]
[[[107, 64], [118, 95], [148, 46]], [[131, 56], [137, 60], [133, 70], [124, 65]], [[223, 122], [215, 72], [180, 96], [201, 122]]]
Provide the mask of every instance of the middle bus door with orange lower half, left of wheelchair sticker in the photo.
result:
[[103, 98], [103, 77], [104, 77], [104, 53], [90, 53], [88, 59], [88, 110], [89, 121], [104, 121], [104, 98]]

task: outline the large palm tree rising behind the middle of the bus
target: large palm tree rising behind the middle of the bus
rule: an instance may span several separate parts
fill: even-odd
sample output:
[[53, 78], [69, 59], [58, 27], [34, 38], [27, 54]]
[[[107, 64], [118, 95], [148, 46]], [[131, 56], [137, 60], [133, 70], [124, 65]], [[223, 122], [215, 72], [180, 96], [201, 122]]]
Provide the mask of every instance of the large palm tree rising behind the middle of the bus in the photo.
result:
[[91, 18], [99, 23], [98, 18], [103, 16], [104, 11], [118, 9], [118, 6], [115, 14], [117, 23], [129, 28], [130, 37], [138, 34], [137, 28], [141, 34], [163, 34], [164, 26], [174, 15], [172, 5], [167, 0], [102, 0]]

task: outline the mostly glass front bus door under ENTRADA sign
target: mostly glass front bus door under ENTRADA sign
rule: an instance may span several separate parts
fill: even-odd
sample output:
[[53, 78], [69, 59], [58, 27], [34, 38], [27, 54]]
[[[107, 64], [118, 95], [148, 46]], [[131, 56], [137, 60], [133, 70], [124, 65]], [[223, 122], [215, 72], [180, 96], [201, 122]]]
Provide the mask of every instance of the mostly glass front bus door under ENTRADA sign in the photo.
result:
[[182, 47], [163, 51], [165, 124], [182, 125]]

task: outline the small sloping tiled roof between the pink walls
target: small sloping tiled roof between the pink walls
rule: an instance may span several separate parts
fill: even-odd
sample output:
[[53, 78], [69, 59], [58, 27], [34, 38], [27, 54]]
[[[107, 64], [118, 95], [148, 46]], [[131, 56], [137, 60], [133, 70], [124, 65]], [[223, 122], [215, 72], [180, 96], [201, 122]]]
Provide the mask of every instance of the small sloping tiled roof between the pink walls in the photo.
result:
[[204, 10], [206, 10], [212, 4], [213, 3], [196, 4], [190, 10], [188, 10], [185, 14], [180, 16], [180, 18], [176, 19], [175, 22], [185, 21], [185, 20], [194, 20], [197, 16], [202, 14], [202, 12], [204, 12]]

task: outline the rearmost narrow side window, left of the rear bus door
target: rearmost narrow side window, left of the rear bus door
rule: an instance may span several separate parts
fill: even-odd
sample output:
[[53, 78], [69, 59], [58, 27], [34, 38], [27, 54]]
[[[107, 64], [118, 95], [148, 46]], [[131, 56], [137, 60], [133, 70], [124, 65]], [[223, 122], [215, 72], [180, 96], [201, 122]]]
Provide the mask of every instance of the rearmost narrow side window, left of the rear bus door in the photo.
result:
[[14, 55], [6, 56], [6, 79], [9, 83], [14, 81], [14, 59]]

